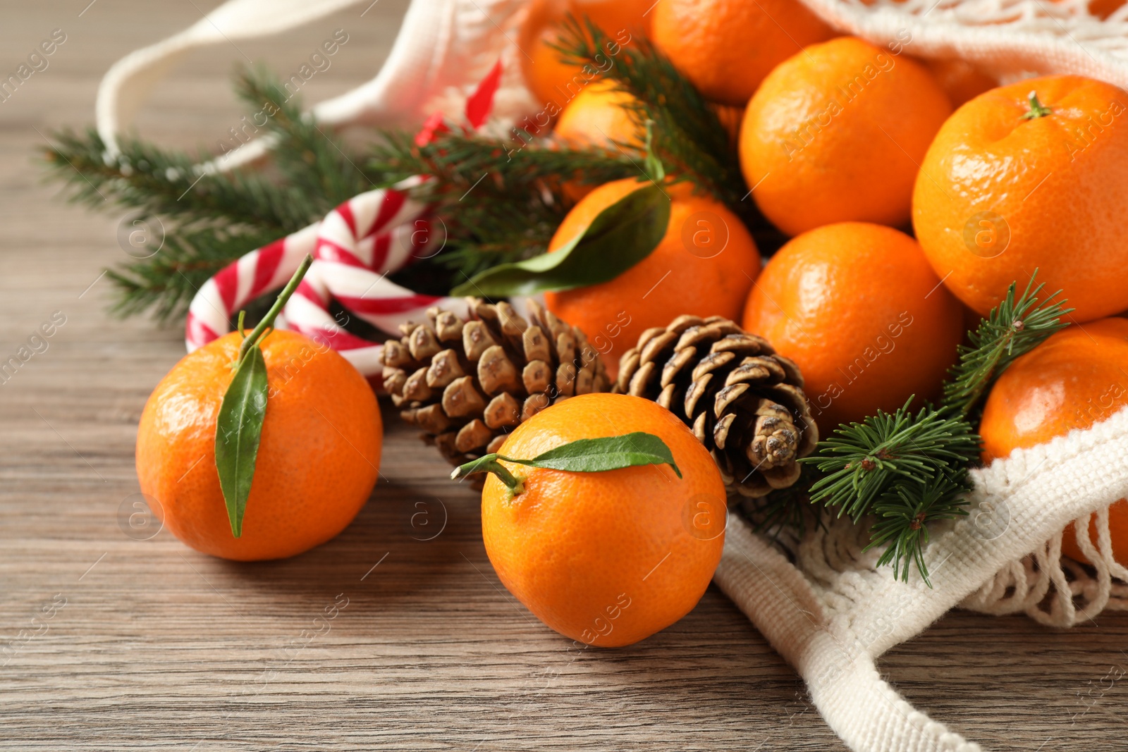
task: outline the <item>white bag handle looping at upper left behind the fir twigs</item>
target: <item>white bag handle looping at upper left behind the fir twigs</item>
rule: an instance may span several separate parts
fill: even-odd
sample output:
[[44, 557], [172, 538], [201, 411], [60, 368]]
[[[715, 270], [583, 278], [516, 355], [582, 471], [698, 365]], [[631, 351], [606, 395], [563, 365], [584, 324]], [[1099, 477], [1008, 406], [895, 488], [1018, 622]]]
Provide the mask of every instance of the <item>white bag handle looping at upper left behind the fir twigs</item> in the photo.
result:
[[[272, 36], [372, 0], [229, 0], [188, 28], [125, 55], [111, 67], [95, 105], [98, 135], [108, 158], [121, 150], [117, 134], [129, 129], [146, 97], [184, 57], [200, 47], [235, 45]], [[379, 73], [368, 82], [312, 107], [326, 125], [417, 126], [435, 100], [450, 90], [452, 106], [497, 62], [510, 46], [510, 29], [527, 0], [413, 0]], [[360, 11], [363, 16], [368, 9]], [[347, 29], [345, 29], [347, 33]], [[238, 54], [238, 53], [232, 53]], [[510, 57], [513, 57], [510, 55]], [[529, 108], [520, 82], [519, 61], [509, 62], [495, 114], [502, 120]], [[256, 139], [215, 159], [205, 169], [229, 169], [262, 157], [271, 147]]]

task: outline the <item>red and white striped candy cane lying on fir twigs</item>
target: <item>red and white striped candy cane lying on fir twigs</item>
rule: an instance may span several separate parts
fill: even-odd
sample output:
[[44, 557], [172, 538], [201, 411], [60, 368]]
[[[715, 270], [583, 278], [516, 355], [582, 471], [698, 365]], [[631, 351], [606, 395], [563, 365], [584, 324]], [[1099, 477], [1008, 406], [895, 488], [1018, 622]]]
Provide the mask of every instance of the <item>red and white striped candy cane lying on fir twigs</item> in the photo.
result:
[[399, 324], [423, 318], [431, 306], [465, 313], [460, 299], [420, 295], [386, 276], [435, 253], [425, 209], [402, 191], [369, 191], [323, 221], [243, 256], [192, 300], [185, 328], [188, 352], [227, 334], [236, 311], [284, 285], [311, 254], [314, 264], [276, 326], [326, 343], [364, 375], [378, 375], [380, 346], [345, 330], [329, 312], [329, 299], [389, 334], [397, 334]]

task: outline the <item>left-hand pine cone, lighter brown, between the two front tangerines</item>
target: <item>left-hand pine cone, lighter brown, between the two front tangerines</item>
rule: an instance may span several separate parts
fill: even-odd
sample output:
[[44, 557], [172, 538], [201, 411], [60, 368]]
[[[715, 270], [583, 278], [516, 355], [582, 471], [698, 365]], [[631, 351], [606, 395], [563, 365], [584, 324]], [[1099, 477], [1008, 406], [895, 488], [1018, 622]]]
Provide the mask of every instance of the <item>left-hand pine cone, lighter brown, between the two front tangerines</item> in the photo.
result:
[[608, 390], [583, 333], [536, 301], [528, 321], [506, 302], [467, 302], [468, 320], [429, 309], [425, 324], [400, 326], [403, 338], [381, 352], [384, 388], [400, 417], [451, 465], [497, 451], [509, 431], [552, 404]]

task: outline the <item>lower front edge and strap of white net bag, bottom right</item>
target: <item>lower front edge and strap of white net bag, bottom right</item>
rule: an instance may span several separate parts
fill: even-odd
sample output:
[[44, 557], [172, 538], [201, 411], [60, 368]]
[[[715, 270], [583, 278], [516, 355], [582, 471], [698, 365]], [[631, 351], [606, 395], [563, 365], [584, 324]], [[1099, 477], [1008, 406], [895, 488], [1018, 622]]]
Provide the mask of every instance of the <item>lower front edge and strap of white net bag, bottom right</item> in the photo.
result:
[[[851, 749], [980, 749], [914, 710], [881, 680], [874, 658], [961, 602], [971, 608], [999, 603], [990, 598], [996, 582], [1012, 580], [1008, 573], [1015, 567], [1026, 572], [1030, 555], [1043, 568], [1052, 565], [1060, 572], [1061, 530], [1070, 520], [1078, 519], [1083, 524], [1077, 529], [1087, 531], [1090, 514], [1103, 515], [1098, 547], [1083, 536], [1078, 542], [1099, 572], [1117, 570], [1117, 605], [1125, 605], [1128, 573], [1112, 560], [1107, 507], [1128, 496], [1128, 409], [1089, 431], [1015, 450], [973, 475], [971, 515], [934, 530], [926, 549], [933, 589], [915, 575], [902, 583], [889, 567], [874, 568], [876, 552], [861, 554], [864, 530], [848, 523], [785, 545], [801, 570], [779, 548], [730, 517], [716, 583], [799, 670], [827, 723]], [[985, 502], [1006, 508], [1010, 517], [1005, 531], [990, 540], [976, 525], [976, 510]], [[1052, 612], [1037, 613], [1060, 626], [1095, 616], [1109, 604], [1107, 583], [1086, 591], [1056, 577], [1047, 583]], [[1042, 590], [1034, 604], [1046, 595]], [[1079, 610], [1075, 595], [1081, 596]], [[1029, 608], [1028, 599], [1019, 600]]]

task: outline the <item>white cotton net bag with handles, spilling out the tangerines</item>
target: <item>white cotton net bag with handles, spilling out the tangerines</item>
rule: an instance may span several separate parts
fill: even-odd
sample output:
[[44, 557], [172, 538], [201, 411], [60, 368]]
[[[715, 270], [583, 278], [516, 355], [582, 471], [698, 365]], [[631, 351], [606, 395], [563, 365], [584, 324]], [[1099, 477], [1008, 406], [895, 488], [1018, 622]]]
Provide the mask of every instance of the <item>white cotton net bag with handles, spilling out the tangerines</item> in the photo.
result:
[[[661, 1], [661, 0], [659, 0]], [[748, 0], [752, 2], [754, 0]], [[1128, 89], [1128, 6], [1105, 19], [1084, 0], [802, 0], [836, 28], [883, 46], [897, 39], [922, 57], [961, 57], [1010, 82], [1073, 73]], [[240, 39], [262, 37], [372, 0], [232, 0], [192, 27], [118, 61], [98, 91], [98, 130], [116, 151], [146, 94], [185, 53], [218, 45], [235, 57]], [[363, 86], [314, 106], [328, 125], [417, 126], [456, 116], [466, 96], [502, 60], [496, 127], [537, 109], [512, 39], [526, 0], [414, 0], [391, 53]], [[907, 42], [906, 42], [907, 39]], [[257, 159], [256, 141], [212, 168]], [[876, 657], [951, 608], [1022, 612], [1070, 627], [1105, 609], [1128, 609], [1128, 570], [1112, 557], [1109, 505], [1128, 496], [1128, 410], [1087, 431], [972, 472], [969, 515], [931, 529], [924, 558], [933, 587], [893, 578], [862, 552], [864, 527], [832, 521], [801, 539], [768, 540], [730, 515], [715, 581], [802, 674], [827, 723], [857, 752], [980, 750], [915, 710], [878, 674]], [[1073, 522], [1091, 563], [1061, 556]], [[1095, 529], [1095, 545], [1084, 534]], [[1070, 533], [1074, 534], [1074, 533]]]

